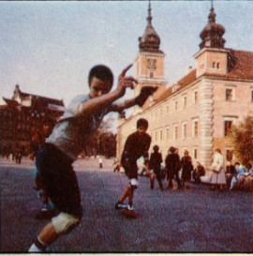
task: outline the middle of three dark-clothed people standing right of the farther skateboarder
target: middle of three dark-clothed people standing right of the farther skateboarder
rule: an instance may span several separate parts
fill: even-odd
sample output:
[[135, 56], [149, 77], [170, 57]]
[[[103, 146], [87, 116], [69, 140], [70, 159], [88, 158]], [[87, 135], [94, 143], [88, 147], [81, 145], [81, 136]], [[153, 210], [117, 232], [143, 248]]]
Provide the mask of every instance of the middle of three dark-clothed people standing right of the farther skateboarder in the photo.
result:
[[[180, 179], [178, 176], [179, 170], [181, 168], [180, 158], [178, 154], [175, 153], [175, 148], [173, 146], [170, 147], [169, 152], [169, 155], [165, 159], [168, 188], [172, 187], [172, 190], [176, 190], [177, 188], [181, 187]], [[177, 182], [177, 187], [175, 185], [175, 180]]]

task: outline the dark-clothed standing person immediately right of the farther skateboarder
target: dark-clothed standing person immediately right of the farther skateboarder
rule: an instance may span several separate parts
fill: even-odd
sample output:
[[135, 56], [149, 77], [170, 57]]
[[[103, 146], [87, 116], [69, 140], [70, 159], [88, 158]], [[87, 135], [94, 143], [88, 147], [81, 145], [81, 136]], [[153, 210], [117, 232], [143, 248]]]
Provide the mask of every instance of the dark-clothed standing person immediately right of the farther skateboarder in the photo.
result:
[[[156, 174], [156, 179], [159, 184], [159, 188], [161, 190], [163, 190], [163, 185], [162, 185], [162, 181], [161, 181], [162, 154], [159, 153], [158, 145], [154, 145], [153, 150], [154, 150], [154, 152], [151, 154], [150, 160], [149, 160], [149, 170], [150, 170], [150, 172], [151, 172], [151, 170], [153, 170], [153, 172]], [[150, 188], [154, 189], [155, 179], [151, 178], [150, 181], [151, 181]]]

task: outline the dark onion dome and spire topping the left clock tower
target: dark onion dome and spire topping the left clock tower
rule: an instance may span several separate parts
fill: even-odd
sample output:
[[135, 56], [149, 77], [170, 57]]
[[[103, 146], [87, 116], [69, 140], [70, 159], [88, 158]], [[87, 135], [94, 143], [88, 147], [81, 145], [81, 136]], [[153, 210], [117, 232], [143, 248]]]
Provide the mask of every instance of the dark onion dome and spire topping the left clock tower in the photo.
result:
[[149, 2], [147, 26], [145, 28], [143, 36], [141, 38], [139, 38], [140, 52], [162, 53], [159, 50], [160, 38], [159, 38], [158, 34], [156, 33], [156, 30], [154, 29], [151, 21], [152, 21], [151, 5]]

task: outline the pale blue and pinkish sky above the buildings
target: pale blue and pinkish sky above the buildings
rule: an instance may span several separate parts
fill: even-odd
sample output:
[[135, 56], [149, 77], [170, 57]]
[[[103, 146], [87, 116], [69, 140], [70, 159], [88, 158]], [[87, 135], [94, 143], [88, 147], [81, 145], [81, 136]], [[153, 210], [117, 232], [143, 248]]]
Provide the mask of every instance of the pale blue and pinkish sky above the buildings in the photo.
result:
[[[253, 2], [213, 3], [225, 47], [253, 52]], [[196, 67], [211, 1], [151, 1], [151, 8], [170, 86]], [[64, 99], [67, 106], [88, 93], [88, 73], [97, 64], [112, 68], [115, 88], [139, 52], [147, 9], [148, 1], [1, 1], [0, 98], [11, 98], [20, 84], [22, 92]], [[131, 68], [127, 75], [133, 74]], [[125, 98], [131, 96], [127, 89]]]

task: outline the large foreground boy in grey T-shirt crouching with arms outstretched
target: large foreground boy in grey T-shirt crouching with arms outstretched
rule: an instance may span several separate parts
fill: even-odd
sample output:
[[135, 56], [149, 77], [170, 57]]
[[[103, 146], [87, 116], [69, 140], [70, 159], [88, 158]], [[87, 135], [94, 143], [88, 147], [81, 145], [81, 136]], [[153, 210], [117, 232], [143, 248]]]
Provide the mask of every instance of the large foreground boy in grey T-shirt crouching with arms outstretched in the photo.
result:
[[81, 196], [72, 163], [92, 139], [104, 115], [141, 105], [154, 92], [154, 89], [141, 89], [137, 98], [127, 99], [123, 103], [114, 102], [125, 95], [127, 87], [134, 88], [138, 83], [126, 76], [131, 66], [122, 71], [113, 91], [112, 70], [103, 65], [91, 68], [88, 77], [90, 93], [72, 99], [37, 154], [36, 166], [43, 188], [60, 213], [38, 234], [29, 252], [45, 250], [59, 236], [69, 233], [80, 223]]

